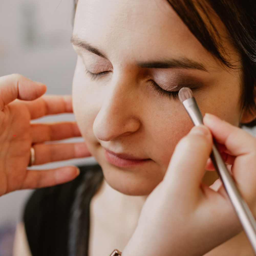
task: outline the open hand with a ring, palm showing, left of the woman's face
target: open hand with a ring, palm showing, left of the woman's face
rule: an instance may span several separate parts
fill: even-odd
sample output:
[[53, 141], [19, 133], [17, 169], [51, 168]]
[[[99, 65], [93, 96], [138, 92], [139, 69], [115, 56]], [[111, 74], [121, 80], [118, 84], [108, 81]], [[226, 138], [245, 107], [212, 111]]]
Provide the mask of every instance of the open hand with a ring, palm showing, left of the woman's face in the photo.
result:
[[[78, 175], [74, 166], [27, 169], [31, 145], [35, 163], [89, 156], [84, 143], [44, 144], [81, 136], [75, 122], [33, 123], [44, 115], [72, 112], [71, 96], [43, 96], [46, 86], [19, 74], [0, 77], [0, 196], [23, 188], [51, 186]], [[39, 98], [40, 97], [40, 98]]]

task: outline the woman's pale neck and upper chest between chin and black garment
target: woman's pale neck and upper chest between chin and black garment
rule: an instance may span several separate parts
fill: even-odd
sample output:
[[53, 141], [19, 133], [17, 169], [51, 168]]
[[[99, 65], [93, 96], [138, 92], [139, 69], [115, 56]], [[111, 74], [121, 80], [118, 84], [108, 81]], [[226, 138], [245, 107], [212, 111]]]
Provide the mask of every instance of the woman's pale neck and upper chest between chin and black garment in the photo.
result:
[[145, 200], [146, 196], [124, 195], [104, 180], [90, 204], [89, 255], [122, 250], [137, 226]]

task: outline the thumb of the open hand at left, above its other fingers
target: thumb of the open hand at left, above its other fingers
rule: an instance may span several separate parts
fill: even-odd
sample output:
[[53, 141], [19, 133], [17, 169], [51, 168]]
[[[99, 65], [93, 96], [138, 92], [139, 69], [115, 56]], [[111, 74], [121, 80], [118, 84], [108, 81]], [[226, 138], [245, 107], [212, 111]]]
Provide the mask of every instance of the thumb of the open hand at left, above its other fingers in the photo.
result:
[[34, 100], [46, 92], [45, 84], [19, 74], [0, 77], [0, 109], [15, 99]]

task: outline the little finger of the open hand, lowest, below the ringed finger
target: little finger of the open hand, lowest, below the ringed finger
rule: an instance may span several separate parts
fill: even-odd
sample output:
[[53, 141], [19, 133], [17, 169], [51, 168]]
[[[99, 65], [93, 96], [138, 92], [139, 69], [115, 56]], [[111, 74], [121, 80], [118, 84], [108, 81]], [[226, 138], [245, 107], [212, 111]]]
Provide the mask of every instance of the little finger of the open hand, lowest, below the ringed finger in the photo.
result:
[[50, 170], [27, 170], [27, 176], [21, 189], [41, 188], [68, 182], [76, 178], [79, 169], [66, 166]]

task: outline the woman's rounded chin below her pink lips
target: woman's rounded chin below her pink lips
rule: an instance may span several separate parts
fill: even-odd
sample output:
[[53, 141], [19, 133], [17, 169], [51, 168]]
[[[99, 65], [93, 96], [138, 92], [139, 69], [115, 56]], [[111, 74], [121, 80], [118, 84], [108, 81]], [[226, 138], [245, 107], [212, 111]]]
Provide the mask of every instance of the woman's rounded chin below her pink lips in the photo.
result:
[[[115, 190], [130, 196], [149, 195], [162, 181], [163, 177], [156, 177], [148, 171], [136, 172], [119, 167], [101, 165], [106, 182]], [[159, 172], [158, 172], [159, 174]]]

